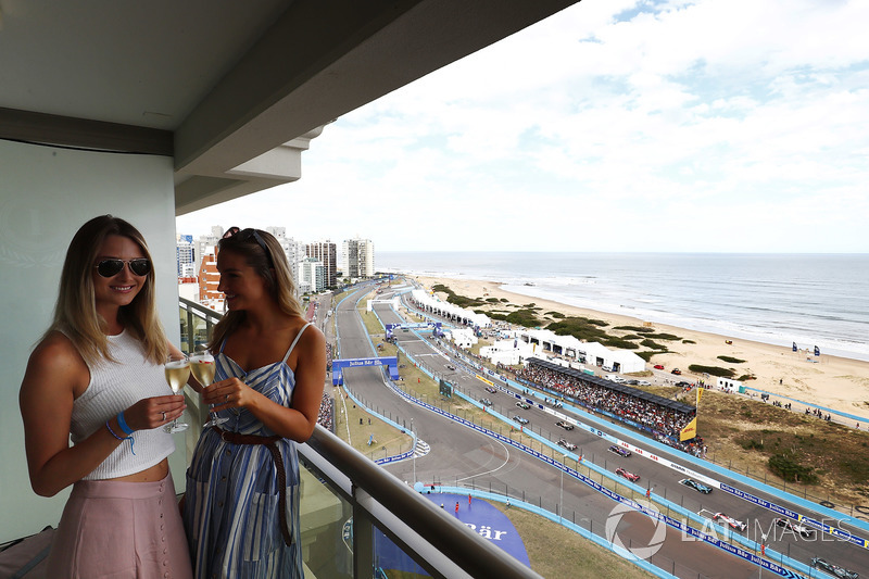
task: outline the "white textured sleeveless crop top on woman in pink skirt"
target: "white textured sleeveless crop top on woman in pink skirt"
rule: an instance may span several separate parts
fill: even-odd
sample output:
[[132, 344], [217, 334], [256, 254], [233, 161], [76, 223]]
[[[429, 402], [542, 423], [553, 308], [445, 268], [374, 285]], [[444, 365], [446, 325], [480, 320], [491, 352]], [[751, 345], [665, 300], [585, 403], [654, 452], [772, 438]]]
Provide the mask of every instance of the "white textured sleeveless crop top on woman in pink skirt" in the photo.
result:
[[[128, 408], [143, 398], [172, 394], [166, 383], [163, 366], [144, 357], [139, 340], [124, 330], [118, 336], [106, 336], [109, 352], [116, 362], [102, 361], [88, 365], [90, 383], [73, 402], [70, 433], [73, 444], [105, 428], [105, 420]], [[123, 431], [115, 432], [124, 437]], [[136, 451], [125, 440], [105, 461], [84, 480], [102, 480], [133, 475], [154, 466], [175, 452], [172, 435], [163, 427], [133, 432]]]

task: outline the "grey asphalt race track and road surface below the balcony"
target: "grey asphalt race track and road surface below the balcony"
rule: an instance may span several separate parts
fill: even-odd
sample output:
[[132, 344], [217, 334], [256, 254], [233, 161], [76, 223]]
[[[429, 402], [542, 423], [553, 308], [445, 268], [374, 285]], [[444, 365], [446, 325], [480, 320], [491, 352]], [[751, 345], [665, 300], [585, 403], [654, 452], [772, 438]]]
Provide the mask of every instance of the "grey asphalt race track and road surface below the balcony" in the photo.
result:
[[[340, 357], [375, 355], [373, 344], [355, 309], [356, 299], [368, 291], [370, 290], [356, 290], [352, 298], [345, 299], [337, 307], [336, 316], [341, 344]], [[387, 305], [376, 305], [375, 309], [383, 323], [403, 322]], [[752, 506], [751, 503], [720, 491], [701, 494], [687, 489], [679, 483], [679, 480], [684, 478], [679, 473], [645, 458], [616, 456], [607, 451], [609, 442], [591, 432], [580, 429], [565, 431], [555, 426], [555, 419], [551, 415], [541, 410], [515, 407], [516, 398], [514, 397], [519, 395], [518, 393], [511, 395], [504, 392], [498, 394], [487, 392], [483, 390], [486, 385], [474, 374], [466, 372], [465, 367], [416, 333], [399, 332], [396, 336], [400, 345], [405, 351], [475, 400], [489, 398], [493, 402], [493, 408], [501, 414], [507, 416], [520, 414], [527, 417], [530, 420], [529, 427], [534, 432], [553, 441], [564, 438], [577, 444], [578, 451], [588, 460], [608, 470], [615, 470], [620, 466], [639, 474], [641, 487], [645, 488], [651, 482], [655, 493], [673, 503], [706, 516], [723, 512], [746, 520], [751, 525], [747, 533], [752, 539], [757, 537], [759, 541], [760, 533], [766, 533], [770, 549], [794, 558], [808, 562], [811, 556], [821, 555], [828, 561], [853, 570], [859, 570], [860, 567], [866, 568], [869, 553], [858, 547], [840, 541], [809, 542], [791, 534], [784, 536], [780, 529], [772, 526], [773, 515], [769, 511]], [[456, 369], [448, 368], [448, 364]], [[430, 445], [431, 451], [424, 457], [394, 463], [386, 467], [401, 480], [412, 481], [415, 469], [416, 480], [421, 482], [458, 486], [473, 483], [477, 488], [491, 488], [492, 491], [505, 492], [514, 498], [525, 495], [529, 501], [539, 502], [542, 507], [552, 512], [556, 512], [556, 505], [563, 494], [565, 517], [585, 527], [588, 527], [589, 519], [594, 524], [603, 525], [616, 505], [609, 499], [570, 477], [563, 479], [559, 470], [546, 466], [516, 449], [406, 402], [387, 386], [382, 373], [378, 369], [353, 368], [350, 373], [345, 373], [345, 381], [354, 391], [364, 392], [365, 398], [375, 402], [382, 410], [381, 412], [402, 417], [398, 420], [401, 424], [410, 425], [413, 419], [418, 436]], [[506, 425], [505, 429], [508, 429]], [[635, 443], [642, 445], [642, 438], [638, 438]], [[675, 455], [672, 458], [678, 461], [679, 456]], [[568, 458], [567, 462], [569, 464], [570, 460]], [[694, 469], [697, 470], [697, 468]], [[721, 478], [711, 473], [709, 475], [714, 478]], [[730, 483], [734, 487], [742, 487], [735, 481], [730, 481]], [[754, 492], [754, 494], [761, 495], [759, 492]], [[772, 498], [767, 499], [771, 500]], [[599, 532], [600, 528], [597, 527]], [[776, 532], [777, 529], [778, 532]], [[642, 515], [631, 514], [621, 519], [617, 533], [626, 544], [629, 541], [632, 544], [647, 544], [654, 530], [655, 527], [650, 519]], [[700, 572], [706, 577], [754, 577], [758, 572], [756, 566], [728, 555], [711, 545], [691, 541], [689, 546], [688, 542], [688, 538], [683, 538], [678, 531], [668, 528], [666, 540], [653, 562], [666, 569], [667, 564], [662, 562], [677, 561], [676, 570], [680, 576], [692, 575], [688, 572], [688, 569], [693, 570], [693, 576]]]

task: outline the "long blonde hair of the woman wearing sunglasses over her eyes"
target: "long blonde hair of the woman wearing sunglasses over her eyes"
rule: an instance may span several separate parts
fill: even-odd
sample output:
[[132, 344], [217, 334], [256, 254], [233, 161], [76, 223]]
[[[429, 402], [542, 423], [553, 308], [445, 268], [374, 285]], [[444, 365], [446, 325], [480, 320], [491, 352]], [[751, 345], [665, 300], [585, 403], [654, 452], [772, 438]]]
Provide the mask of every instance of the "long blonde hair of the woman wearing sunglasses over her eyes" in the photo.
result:
[[[144, 237], [128, 222], [112, 215], [100, 215], [87, 222], [76, 231], [66, 250], [54, 318], [43, 336], [45, 339], [52, 331], [63, 332], [88, 365], [98, 365], [103, 360], [114, 362], [105, 337], [106, 320], [97, 313], [93, 288], [93, 265], [109, 236], [133, 240], [151, 260]], [[154, 303], [154, 268], [151, 267], [139, 293], [133, 302], [121, 307], [118, 315], [124, 328], [141, 342], [146, 357], [154, 364], [162, 364], [166, 358], [167, 341]]]

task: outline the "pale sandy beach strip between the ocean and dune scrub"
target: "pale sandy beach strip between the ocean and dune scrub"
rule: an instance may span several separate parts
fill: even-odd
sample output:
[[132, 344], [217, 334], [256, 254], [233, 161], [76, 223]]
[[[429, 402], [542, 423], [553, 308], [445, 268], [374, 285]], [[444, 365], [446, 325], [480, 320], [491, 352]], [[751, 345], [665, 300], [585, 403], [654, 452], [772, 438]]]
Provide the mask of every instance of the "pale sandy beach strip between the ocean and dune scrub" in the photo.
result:
[[[429, 290], [432, 286], [442, 284], [455, 293], [468, 298], [503, 298], [517, 305], [533, 302], [543, 309], [542, 312], [553, 311], [565, 316], [602, 319], [610, 327], [641, 326], [644, 322], [630, 316], [595, 312], [537, 297], [513, 293], [503, 290], [500, 284], [492, 281], [442, 277], [417, 277], [416, 280]], [[445, 300], [445, 294], [441, 293], [439, 297]], [[501, 309], [501, 306], [499, 307]], [[861, 429], [869, 426], [869, 362], [826, 354], [816, 358], [811, 352], [793, 352], [788, 348], [761, 342], [664, 324], [654, 324], [653, 327], [658, 332], [673, 333], [681, 337], [682, 340], [694, 342], [668, 342], [672, 352], [657, 354], [653, 357], [655, 364], [664, 364], [668, 370], [673, 367], [681, 368], [683, 370], [682, 379], [695, 381], [700, 378], [688, 372], [690, 364], [733, 368], [738, 376], [754, 375], [756, 377], [755, 380], [746, 381], [745, 386], [865, 416], [867, 424], [861, 424]], [[728, 344], [726, 340], [731, 340], [732, 343]], [[722, 355], [745, 362], [731, 364], [718, 360], [718, 356]], [[817, 362], [808, 362], [807, 357]]]

